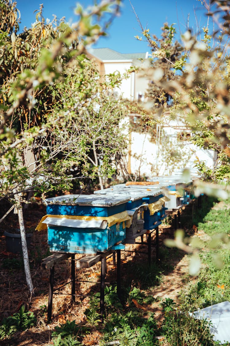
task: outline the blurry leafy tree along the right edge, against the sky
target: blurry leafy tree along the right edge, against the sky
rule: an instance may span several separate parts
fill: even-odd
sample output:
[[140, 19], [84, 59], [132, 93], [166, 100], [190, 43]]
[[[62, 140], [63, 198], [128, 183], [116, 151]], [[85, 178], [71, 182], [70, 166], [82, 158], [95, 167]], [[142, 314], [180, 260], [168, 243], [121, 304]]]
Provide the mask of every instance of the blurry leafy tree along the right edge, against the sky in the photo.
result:
[[[149, 29], [143, 29], [141, 26], [141, 30], [152, 47], [151, 67], [148, 69], [149, 79], [153, 81], [154, 88], [157, 87], [161, 92], [161, 95], [157, 97], [154, 93], [152, 96], [149, 94], [152, 101], [151, 107], [159, 110], [157, 114], [159, 118], [156, 119], [152, 114], [152, 121], [155, 123], [156, 120], [164, 122], [169, 118], [176, 119], [191, 130], [192, 143], [213, 150], [216, 153], [216, 165], [213, 169], [199, 161], [196, 166], [203, 173], [203, 179], [216, 182], [230, 178], [228, 53], [230, 7], [225, 1], [216, 0], [211, 0], [209, 4], [202, 1], [201, 4], [208, 12], [207, 26], [200, 30], [201, 40], [188, 29], [182, 35], [183, 50], [181, 46], [178, 46], [179, 49], [173, 56], [170, 51], [168, 52], [168, 43], [173, 44], [175, 34], [172, 25], [164, 26], [164, 39], [161, 45], [156, 43], [159, 40], [155, 36], [149, 34]], [[211, 20], [216, 30], [213, 33], [210, 33]], [[168, 78], [168, 71], [170, 78]], [[168, 102], [169, 97], [170, 102]], [[202, 192], [207, 190], [206, 186], [209, 190], [210, 185], [202, 182], [199, 192], [201, 189]], [[212, 186], [215, 191], [218, 191], [218, 186], [217, 189], [214, 184]], [[226, 194], [223, 193], [223, 195]]]

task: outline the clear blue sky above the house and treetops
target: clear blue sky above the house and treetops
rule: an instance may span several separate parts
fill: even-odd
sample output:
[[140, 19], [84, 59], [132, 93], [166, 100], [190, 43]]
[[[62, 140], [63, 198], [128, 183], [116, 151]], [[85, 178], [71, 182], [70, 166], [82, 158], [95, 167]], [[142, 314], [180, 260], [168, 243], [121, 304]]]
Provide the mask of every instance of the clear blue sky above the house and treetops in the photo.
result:
[[[93, 4], [93, 0], [78, 1], [83, 7]], [[196, 28], [196, 21], [200, 28], [207, 25], [207, 17], [204, 8], [198, 0], [131, 0], [137, 12], [142, 26], [150, 28], [151, 34], [160, 36], [160, 28], [164, 22], [175, 23], [175, 28], [182, 33], [186, 30], [186, 22], [189, 16], [189, 26]], [[58, 18], [66, 17], [67, 21], [76, 21], [74, 8], [77, 1], [72, 0], [18, 0], [17, 7], [21, 12], [20, 31], [24, 26], [30, 27], [35, 21], [34, 10], [39, 9], [40, 3], [44, 5], [44, 18], [52, 19], [52, 15]], [[196, 12], [196, 16], [194, 15]], [[114, 19], [108, 30], [108, 37], [100, 38], [95, 47], [109, 47], [120, 53], [150, 52], [146, 42], [137, 41], [134, 36], [140, 36], [140, 28], [132, 11], [129, 0], [123, 0], [121, 15]]]

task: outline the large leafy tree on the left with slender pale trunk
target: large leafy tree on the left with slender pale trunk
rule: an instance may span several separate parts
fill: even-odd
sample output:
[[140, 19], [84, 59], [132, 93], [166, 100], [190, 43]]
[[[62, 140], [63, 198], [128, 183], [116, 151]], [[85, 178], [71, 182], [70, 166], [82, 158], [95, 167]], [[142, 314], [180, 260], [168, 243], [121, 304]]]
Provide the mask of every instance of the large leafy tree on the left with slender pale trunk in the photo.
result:
[[[75, 179], [71, 170], [82, 166], [89, 151], [94, 150], [90, 145], [98, 126], [95, 120], [99, 118], [93, 102], [103, 98], [101, 115], [111, 113], [111, 127], [118, 128], [123, 114], [119, 102], [106, 98], [117, 81], [101, 83], [84, 55], [86, 45], [104, 34], [99, 24], [93, 24], [95, 17], [102, 18], [110, 12], [112, 18], [119, 9], [119, 1], [102, 1], [88, 10], [78, 7], [79, 21], [72, 27], [56, 18], [45, 23], [41, 5], [36, 24], [22, 34], [17, 34], [16, 6], [11, 0], [0, 0], [0, 195], [18, 209], [24, 267], [32, 294], [22, 213], [26, 194], [71, 188]], [[108, 21], [104, 26], [107, 25]], [[84, 122], [89, 121], [83, 119], [84, 112], [92, 117], [89, 124]], [[101, 133], [105, 130], [111, 131], [101, 127]], [[119, 136], [119, 130], [114, 131]], [[122, 135], [119, 138], [122, 150], [125, 143]], [[95, 142], [97, 155], [111, 152], [111, 143], [108, 149], [105, 140], [100, 146]], [[81, 167], [82, 177], [111, 173], [108, 161], [112, 155], [108, 159], [104, 156], [100, 172], [96, 161], [94, 170], [85, 164]]]

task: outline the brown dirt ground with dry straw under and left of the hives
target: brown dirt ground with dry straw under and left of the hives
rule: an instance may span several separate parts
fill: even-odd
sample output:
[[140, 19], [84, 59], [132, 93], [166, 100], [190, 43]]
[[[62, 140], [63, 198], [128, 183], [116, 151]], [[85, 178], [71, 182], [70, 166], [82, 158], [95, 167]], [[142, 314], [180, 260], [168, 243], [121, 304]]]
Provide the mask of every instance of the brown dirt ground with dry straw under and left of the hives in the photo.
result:
[[[46, 214], [44, 206], [33, 204], [24, 212], [26, 229], [32, 231], [37, 226], [39, 220]], [[1, 302], [0, 302], [0, 321], [3, 317], [8, 317], [17, 312], [24, 304], [26, 309], [33, 311], [38, 318], [39, 325], [24, 332], [17, 332], [11, 340], [3, 340], [0, 342], [4, 346], [32, 346], [32, 345], [52, 345], [51, 333], [55, 326], [63, 323], [65, 320], [76, 320], [76, 323], [84, 321], [84, 310], [88, 306], [88, 297], [77, 297], [76, 303], [72, 304], [69, 295], [70, 285], [63, 286], [60, 289], [62, 295], [54, 295], [52, 309], [52, 324], [47, 324], [47, 305], [48, 305], [48, 284], [49, 271], [41, 267], [41, 260], [50, 255], [47, 245], [47, 231], [33, 232], [33, 240], [29, 247], [29, 261], [31, 267], [32, 281], [34, 285], [34, 295], [28, 295], [26, 279], [23, 270], [23, 260], [21, 254], [12, 254], [6, 249], [6, 239], [3, 235], [4, 230], [18, 227], [17, 215], [11, 213], [0, 224], [0, 264], [1, 264]], [[173, 237], [173, 229], [168, 226], [162, 226], [160, 229], [160, 253], [161, 261], [164, 261], [164, 245], [163, 239]], [[152, 237], [153, 250], [152, 258], [154, 260], [154, 236]], [[134, 261], [136, 263], [146, 263], [147, 266], [147, 246], [146, 245], [129, 245], [128, 249], [141, 251], [142, 253], [123, 252], [121, 256], [121, 272], [122, 280], [130, 275], [126, 271], [127, 263]], [[143, 251], [144, 250], [144, 251]], [[171, 251], [171, 250], [170, 250]], [[82, 255], [76, 255], [78, 259]], [[191, 278], [188, 275], [188, 257], [180, 251], [176, 251], [169, 256], [168, 270], [164, 269], [161, 273], [161, 280], [152, 291], [147, 291], [148, 295], [154, 298], [172, 298], [177, 299], [177, 294], [184, 285], [188, 284]], [[168, 260], [167, 260], [168, 261]], [[159, 263], [159, 266], [161, 264]], [[64, 261], [55, 267], [54, 287], [58, 288], [64, 283], [70, 281], [71, 265], [70, 261]], [[76, 279], [81, 281], [97, 281], [98, 283], [77, 282], [76, 294], [89, 295], [92, 292], [100, 291], [100, 264], [96, 264], [89, 269], [76, 271]], [[126, 277], [127, 279], [127, 277]], [[132, 278], [130, 277], [130, 280]], [[107, 261], [106, 282], [116, 282], [116, 267], [113, 266], [112, 257]], [[162, 319], [162, 310], [159, 302], [153, 304], [150, 310], [155, 312], [155, 316], [159, 323]], [[100, 333], [95, 329], [93, 339], [84, 340], [85, 345], [97, 344]]]

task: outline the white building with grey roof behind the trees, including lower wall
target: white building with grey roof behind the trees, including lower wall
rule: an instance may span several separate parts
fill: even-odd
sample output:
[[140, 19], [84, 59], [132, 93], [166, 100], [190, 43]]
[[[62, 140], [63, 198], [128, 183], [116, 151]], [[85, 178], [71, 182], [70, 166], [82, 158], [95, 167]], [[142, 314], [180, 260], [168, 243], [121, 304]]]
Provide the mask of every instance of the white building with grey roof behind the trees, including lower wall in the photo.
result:
[[[133, 65], [147, 61], [149, 53], [121, 54], [110, 48], [94, 48], [88, 51], [90, 58], [94, 58], [100, 75], [106, 75], [119, 71], [124, 74]], [[129, 100], [145, 102], [145, 93], [148, 88], [148, 79], [141, 73], [132, 72], [130, 77], [122, 80], [120, 88], [114, 93], [122, 95]], [[138, 118], [139, 115], [127, 115], [126, 121]], [[127, 155], [127, 170], [137, 176], [169, 175], [186, 167], [193, 170], [194, 163], [204, 161], [212, 168], [215, 163], [214, 152], [204, 150], [190, 144], [190, 133], [183, 124], [167, 122], [157, 127], [156, 140], [152, 141], [148, 133], [132, 131], [127, 133], [130, 139], [130, 147]], [[182, 139], [182, 140], [181, 140]], [[179, 149], [179, 146], [181, 147]], [[177, 155], [177, 160], [170, 160]], [[175, 161], [175, 162], [174, 162]]]

